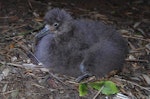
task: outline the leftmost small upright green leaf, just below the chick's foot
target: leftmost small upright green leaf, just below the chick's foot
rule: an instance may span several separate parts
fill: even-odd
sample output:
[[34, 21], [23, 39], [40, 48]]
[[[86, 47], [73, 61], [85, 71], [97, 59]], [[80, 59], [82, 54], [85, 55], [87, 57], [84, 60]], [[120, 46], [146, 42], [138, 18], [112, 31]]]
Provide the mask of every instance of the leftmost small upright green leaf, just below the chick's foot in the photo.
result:
[[88, 93], [87, 83], [81, 83], [79, 85], [79, 96], [85, 96]]

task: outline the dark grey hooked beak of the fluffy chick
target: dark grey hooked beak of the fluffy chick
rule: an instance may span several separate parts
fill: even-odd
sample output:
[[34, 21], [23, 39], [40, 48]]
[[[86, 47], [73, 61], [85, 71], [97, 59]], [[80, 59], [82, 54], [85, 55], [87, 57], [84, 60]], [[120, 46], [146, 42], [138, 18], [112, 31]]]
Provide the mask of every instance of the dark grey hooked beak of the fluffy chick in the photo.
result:
[[49, 25], [45, 25], [45, 27], [35, 35], [35, 38], [41, 39], [42, 37], [44, 37], [45, 35], [47, 35], [49, 33], [50, 33], [50, 27], [49, 27]]

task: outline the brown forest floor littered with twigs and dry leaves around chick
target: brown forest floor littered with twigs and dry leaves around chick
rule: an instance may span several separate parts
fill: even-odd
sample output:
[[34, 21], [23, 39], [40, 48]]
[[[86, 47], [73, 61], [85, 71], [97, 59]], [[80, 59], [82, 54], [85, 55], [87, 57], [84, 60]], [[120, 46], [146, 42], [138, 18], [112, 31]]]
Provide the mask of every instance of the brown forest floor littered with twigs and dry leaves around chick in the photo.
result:
[[[128, 41], [129, 55], [122, 72], [111, 80], [120, 94], [97, 99], [150, 99], [150, 2], [147, 0], [1, 0], [0, 99], [94, 99], [97, 91], [80, 97], [74, 78], [34, 67], [36, 33], [47, 9], [64, 8], [74, 18], [113, 25]], [[100, 80], [100, 79], [97, 79]], [[125, 97], [126, 96], [126, 97]]]

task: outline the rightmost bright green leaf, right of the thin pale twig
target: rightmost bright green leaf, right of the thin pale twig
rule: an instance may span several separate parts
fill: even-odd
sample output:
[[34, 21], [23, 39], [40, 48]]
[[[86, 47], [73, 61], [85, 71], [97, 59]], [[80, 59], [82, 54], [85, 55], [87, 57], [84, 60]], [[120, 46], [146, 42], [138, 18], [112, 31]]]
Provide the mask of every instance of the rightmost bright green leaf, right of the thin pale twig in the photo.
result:
[[112, 95], [118, 93], [119, 90], [115, 83], [112, 81], [105, 81], [104, 82], [104, 88], [102, 89], [102, 94], [105, 95]]

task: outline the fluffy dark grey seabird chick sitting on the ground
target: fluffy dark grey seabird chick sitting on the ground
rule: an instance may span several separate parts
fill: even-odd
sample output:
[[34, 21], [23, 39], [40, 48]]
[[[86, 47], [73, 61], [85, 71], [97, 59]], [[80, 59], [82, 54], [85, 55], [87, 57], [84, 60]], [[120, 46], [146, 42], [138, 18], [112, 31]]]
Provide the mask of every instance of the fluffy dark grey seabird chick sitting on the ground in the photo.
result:
[[49, 10], [46, 26], [35, 56], [43, 65], [60, 74], [103, 77], [121, 70], [128, 53], [127, 42], [112, 27], [99, 21], [73, 19], [62, 9]]

